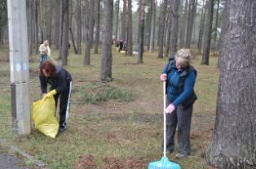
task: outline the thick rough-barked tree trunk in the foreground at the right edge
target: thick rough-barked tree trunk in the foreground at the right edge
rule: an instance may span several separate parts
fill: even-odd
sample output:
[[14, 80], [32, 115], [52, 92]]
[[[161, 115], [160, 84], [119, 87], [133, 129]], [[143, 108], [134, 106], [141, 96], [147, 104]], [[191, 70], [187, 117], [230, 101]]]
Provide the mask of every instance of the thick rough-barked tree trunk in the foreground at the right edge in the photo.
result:
[[255, 18], [256, 1], [226, 1], [216, 122], [206, 151], [214, 167], [252, 169], [256, 165]]

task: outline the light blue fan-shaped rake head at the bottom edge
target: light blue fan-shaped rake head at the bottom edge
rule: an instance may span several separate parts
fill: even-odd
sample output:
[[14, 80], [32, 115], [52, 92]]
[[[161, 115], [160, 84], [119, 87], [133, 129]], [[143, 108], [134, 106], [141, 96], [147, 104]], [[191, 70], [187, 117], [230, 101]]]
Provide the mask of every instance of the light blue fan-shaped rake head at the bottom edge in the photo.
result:
[[181, 169], [179, 164], [172, 163], [167, 157], [162, 157], [158, 162], [149, 163], [148, 169]]

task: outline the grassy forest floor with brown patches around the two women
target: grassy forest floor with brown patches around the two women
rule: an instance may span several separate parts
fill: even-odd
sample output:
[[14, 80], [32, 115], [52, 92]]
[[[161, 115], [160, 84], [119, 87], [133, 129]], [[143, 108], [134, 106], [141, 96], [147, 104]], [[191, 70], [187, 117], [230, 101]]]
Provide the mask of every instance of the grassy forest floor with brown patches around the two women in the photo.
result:
[[[0, 139], [42, 160], [49, 168], [147, 168], [161, 156], [163, 138], [163, 95], [160, 75], [167, 58], [145, 52], [143, 64], [113, 49], [113, 81], [99, 81], [101, 54], [91, 54], [90, 66], [83, 66], [84, 55], [69, 50], [68, 66], [73, 76], [72, 105], [68, 129], [51, 139], [33, 126], [32, 133], [19, 137], [11, 128], [9, 63], [0, 62]], [[57, 58], [53, 50], [53, 58]], [[176, 159], [178, 146], [169, 158], [183, 169], [210, 169], [205, 150], [214, 129], [218, 92], [218, 58], [201, 65], [201, 55], [193, 50], [198, 100], [192, 114], [191, 156]], [[1, 56], [0, 56], [1, 58]], [[3, 58], [1, 58], [4, 60]], [[41, 98], [38, 55], [29, 63], [31, 103]], [[110, 93], [110, 96], [109, 96]]]

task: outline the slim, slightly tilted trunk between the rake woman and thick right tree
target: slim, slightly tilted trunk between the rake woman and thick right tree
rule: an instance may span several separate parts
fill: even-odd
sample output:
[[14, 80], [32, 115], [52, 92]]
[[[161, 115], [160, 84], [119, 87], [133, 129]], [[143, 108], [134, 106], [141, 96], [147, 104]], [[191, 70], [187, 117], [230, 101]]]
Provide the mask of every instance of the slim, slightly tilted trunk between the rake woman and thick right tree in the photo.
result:
[[202, 64], [209, 65], [209, 55], [210, 55], [210, 41], [211, 41], [211, 30], [213, 24], [214, 16], [214, 0], [209, 0], [207, 7], [207, 20], [205, 24], [204, 31], [204, 50], [202, 55]]

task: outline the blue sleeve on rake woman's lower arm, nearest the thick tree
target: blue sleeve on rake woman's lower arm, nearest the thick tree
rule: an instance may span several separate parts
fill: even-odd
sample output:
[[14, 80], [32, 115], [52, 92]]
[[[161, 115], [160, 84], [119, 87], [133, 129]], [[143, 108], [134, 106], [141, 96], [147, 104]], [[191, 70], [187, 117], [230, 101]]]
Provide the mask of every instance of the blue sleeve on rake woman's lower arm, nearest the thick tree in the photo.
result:
[[184, 100], [186, 100], [190, 94], [192, 94], [194, 85], [196, 83], [196, 75], [195, 72], [191, 72], [188, 74], [188, 77], [184, 81], [184, 90], [183, 93], [179, 95], [173, 102], [175, 107], [179, 106]]

